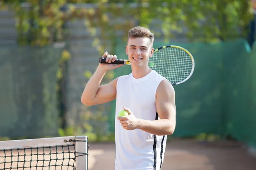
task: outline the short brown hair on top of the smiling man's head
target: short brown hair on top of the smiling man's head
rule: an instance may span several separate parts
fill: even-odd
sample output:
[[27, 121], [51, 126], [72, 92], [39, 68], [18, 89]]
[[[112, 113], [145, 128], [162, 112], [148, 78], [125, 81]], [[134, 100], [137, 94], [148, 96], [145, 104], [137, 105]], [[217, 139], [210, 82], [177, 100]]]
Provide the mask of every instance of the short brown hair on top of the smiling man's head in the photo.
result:
[[151, 42], [154, 41], [154, 34], [151, 31], [149, 31], [148, 28], [144, 28], [141, 26], [131, 28], [130, 31], [128, 32], [128, 39], [138, 37], [146, 37], [149, 38]]

